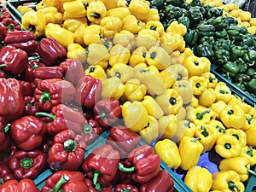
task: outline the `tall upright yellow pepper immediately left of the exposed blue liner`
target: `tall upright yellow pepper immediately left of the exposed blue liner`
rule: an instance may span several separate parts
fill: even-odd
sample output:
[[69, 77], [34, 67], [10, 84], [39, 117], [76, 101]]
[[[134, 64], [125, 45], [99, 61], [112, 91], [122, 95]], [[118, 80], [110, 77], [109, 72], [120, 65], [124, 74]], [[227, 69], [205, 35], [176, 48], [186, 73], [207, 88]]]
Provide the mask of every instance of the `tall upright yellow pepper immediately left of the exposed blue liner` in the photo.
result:
[[181, 157], [180, 167], [183, 170], [189, 170], [190, 167], [196, 166], [203, 151], [203, 145], [200, 143], [200, 138], [182, 137], [179, 142], [178, 151]]

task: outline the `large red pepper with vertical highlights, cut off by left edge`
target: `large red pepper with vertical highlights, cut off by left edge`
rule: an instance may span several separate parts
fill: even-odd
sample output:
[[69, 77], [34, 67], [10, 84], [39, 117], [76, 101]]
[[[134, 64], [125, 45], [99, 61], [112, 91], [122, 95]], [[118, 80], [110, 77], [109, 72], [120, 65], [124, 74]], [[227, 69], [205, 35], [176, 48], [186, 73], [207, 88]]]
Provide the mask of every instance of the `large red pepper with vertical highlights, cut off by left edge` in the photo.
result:
[[7, 123], [20, 118], [25, 103], [22, 96], [22, 87], [16, 79], [0, 79], [0, 116]]

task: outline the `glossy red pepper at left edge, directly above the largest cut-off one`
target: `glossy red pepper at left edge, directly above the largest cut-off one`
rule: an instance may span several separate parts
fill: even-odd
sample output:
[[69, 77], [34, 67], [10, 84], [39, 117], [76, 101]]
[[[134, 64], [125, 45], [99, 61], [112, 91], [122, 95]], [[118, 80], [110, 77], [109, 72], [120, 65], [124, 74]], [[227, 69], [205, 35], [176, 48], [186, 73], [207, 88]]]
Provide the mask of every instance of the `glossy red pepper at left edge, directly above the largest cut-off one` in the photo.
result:
[[0, 67], [3, 71], [15, 75], [23, 73], [26, 69], [28, 57], [26, 51], [16, 49], [14, 46], [6, 45], [0, 49]]

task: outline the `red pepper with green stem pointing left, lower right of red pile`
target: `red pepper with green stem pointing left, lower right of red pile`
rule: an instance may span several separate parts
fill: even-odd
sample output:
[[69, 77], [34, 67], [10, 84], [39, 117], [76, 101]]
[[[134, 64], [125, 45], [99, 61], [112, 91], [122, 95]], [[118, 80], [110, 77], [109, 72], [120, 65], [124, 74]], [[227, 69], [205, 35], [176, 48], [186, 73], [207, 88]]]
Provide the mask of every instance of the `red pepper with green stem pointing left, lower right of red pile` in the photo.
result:
[[160, 156], [151, 146], [141, 145], [131, 150], [124, 164], [119, 163], [119, 170], [131, 172], [136, 183], [147, 183], [160, 172]]

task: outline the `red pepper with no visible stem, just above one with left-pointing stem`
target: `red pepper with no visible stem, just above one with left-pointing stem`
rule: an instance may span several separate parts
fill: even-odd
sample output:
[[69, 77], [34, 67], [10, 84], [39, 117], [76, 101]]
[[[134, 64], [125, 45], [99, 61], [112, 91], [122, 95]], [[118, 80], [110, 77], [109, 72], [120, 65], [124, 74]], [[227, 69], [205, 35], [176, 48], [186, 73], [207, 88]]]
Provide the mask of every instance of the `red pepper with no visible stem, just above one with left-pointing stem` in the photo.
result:
[[123, 125], [113, 126], [109, 131], [107, 143], [119, 151], [120, 158], [126, 158], [127, 154], [140, 143], [141, 137], [134, 131]]

